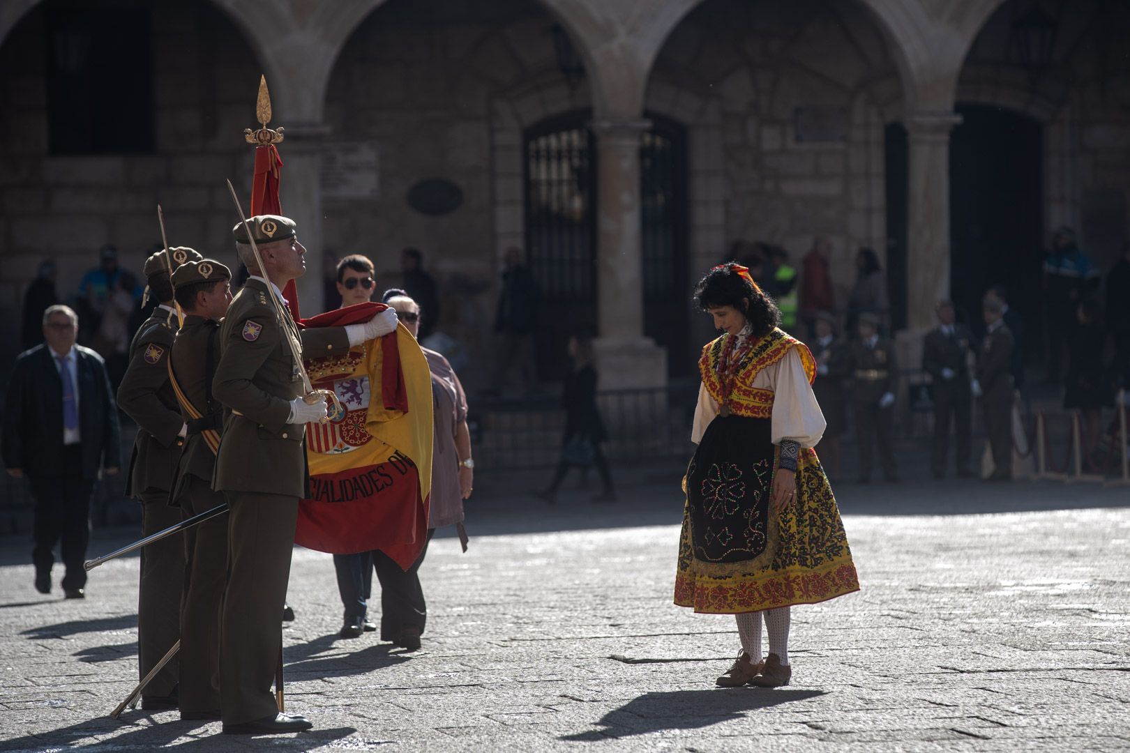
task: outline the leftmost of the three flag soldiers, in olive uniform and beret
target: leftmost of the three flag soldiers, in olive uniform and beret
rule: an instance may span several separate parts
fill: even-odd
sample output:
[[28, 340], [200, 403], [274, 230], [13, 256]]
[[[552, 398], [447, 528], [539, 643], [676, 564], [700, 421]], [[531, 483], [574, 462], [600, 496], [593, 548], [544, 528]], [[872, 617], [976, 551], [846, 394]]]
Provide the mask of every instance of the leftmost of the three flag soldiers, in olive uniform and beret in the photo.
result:
[[[181, 522], [168, 505], [185, 426], [168, 383], [168, 352], [180, 326], [173, 308], [174, 268], [201, 256], [191, 248], [159, 251], [145, 262], [149, 295], [158, 306], [130, 343], [130, 365], [118, 388], [118, 405], [138, 424], [133, 455], [125, 475], [125, 496], [141, 502], [141, 531], [148, 536]], [[138, 671], [141, 677], [160, 662], [180, 638], [181, 585], [184, 581], [183, 541], [168, 536], [141, 550], [138, 594]], [[177, 708], [177, 663], [169, 662], [142, 691], [141, 708]]]

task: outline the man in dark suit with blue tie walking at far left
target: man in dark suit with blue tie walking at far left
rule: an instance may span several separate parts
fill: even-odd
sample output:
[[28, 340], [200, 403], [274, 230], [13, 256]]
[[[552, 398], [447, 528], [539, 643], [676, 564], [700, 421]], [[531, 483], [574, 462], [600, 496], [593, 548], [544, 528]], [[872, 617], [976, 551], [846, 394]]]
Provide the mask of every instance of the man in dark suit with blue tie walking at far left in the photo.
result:
[[62, 540], [67, 598], [86, 593], [90, 492], [99, 470], [118, 473], [118, 408], [102, 357], [75, 344], [78, 315], [68, 306], [43, 314], [43, 336], [16, 359], [5, 397], [2, 449], [14, 478], [35, 497], [35, 587], [51, 593], [52, 550]]

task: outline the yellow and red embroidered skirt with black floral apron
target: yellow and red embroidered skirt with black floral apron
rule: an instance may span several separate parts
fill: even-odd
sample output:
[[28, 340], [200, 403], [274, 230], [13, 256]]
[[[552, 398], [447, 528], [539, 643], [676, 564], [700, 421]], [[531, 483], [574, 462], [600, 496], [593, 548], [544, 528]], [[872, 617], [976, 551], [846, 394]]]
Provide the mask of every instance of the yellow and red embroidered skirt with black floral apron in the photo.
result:
[[[754, 447], [748, 444], [753, 424], [747, 422], [758, 421], [714, 419], [687, 469], [675, 578], [679, 606], [739, 614], [859, 590], [840, 509], [816, 452], [800, 452], [797, 501], [774, 511], [768, 497], [775, 448], [760, 436], [760, 426]], [[765, 457], [754, 457], [759, 455]]]

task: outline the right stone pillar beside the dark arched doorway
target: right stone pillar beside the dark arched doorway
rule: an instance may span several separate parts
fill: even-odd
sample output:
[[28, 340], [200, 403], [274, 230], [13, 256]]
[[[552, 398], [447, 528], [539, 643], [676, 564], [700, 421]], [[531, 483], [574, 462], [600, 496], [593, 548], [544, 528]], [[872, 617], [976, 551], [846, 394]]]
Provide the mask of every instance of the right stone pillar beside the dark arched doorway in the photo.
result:
[[933, 326], [935, 305], [949, 296], [949, 132], [954, 113], [906, 117], [910, 141], [906, 325], [911, 332]]

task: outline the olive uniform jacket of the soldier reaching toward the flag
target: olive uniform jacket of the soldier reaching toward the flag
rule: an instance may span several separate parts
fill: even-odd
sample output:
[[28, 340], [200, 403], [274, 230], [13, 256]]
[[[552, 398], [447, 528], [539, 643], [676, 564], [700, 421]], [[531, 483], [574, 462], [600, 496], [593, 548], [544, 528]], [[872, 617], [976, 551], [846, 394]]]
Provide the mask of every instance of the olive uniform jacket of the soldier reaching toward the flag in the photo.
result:
[[271, 295], [259, 280], [247, 280], [220, 325], [212, 395], [225, 410], [212, 489], [306, 497], [306, 424], [287, 423], [290, 401], [303, 395], [301, 364], [287, 339], [297, 342], [299, 354], [324, 354], [347, 353], [349, 338], [345, 327], [299, 333], [285, 310], [278, 321]]

